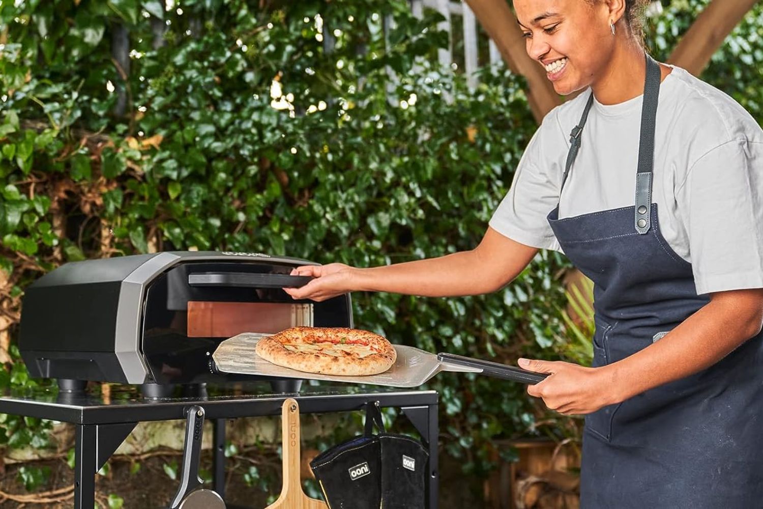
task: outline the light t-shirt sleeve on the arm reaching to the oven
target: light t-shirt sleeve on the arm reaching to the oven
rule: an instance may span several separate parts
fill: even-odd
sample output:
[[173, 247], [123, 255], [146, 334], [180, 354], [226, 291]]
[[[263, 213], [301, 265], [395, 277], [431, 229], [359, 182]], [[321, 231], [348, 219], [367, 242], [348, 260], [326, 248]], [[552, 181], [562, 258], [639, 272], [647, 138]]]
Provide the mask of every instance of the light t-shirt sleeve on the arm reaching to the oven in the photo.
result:
[[[546, 217], [559, 203], [562, 170], [559, 161], [549, 155], [565, 150], [560, 150], [559, 140], [549, 140], [549, 137], [554, 137], [552, 127], [555, 124], [553, 119], [548, 118], [550, 116], [527, 144], [509, 192], [498, 205], [489, 224], [504, 237], [526, 246], [559, 251], [559, 242]], [[564, 147], [563, 138], [561, 143]], [[544, 150], [549, 146], [554, 149]]]

